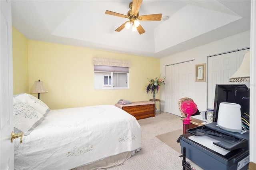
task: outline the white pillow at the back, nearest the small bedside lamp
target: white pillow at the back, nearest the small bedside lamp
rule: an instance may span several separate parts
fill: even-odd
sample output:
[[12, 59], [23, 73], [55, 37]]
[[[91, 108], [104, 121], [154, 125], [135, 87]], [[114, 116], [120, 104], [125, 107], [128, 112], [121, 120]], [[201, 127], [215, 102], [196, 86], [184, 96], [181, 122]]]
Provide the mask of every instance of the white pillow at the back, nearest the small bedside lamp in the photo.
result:
[[50, 111], [49, 107], [44, 102], [42, 102], [41, 100], [39, 100], [38, 98], [30, 94], [21, 93], [19, 95], [15, 95], [14, 97], [24, 103], [27, 103], [28, 105], [33, 107], [36, 111], [41, 113], [44, 117]]

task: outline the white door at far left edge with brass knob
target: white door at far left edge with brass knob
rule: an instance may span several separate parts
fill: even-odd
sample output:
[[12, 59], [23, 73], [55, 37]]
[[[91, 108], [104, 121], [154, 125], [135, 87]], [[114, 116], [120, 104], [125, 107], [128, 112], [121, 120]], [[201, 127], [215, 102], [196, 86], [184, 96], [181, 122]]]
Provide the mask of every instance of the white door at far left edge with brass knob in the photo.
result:
[[11, 2], [0, 0], [0, 170], [14, 169]]

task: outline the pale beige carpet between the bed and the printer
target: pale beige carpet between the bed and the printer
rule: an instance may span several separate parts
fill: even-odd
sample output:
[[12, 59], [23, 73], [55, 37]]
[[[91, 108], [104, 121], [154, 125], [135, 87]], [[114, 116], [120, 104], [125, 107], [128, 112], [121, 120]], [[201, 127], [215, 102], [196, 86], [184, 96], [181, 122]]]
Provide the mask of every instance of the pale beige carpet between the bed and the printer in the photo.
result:
[[[173, 137], [173, 140], [166, 139], [162, 142], [156, 137], [174, 131], [182, 132], [183, 124], [180, 117], [158, 112], [155, 117], [140, 119], [138, 123], [142, 128], [141, 150], [124, 161], [122, 165], [110, 168], [110, 170], [182, 170], [181, 154], [180, 151], [176, 151], [179, 145], [176, 142], [178, 138]], [[170, 135], [174, 134], [178, 133], [174, 132]], [[173, 141], [172, 144], [171, 141]], [[169, 142], [170, 146], [165, 142]]]

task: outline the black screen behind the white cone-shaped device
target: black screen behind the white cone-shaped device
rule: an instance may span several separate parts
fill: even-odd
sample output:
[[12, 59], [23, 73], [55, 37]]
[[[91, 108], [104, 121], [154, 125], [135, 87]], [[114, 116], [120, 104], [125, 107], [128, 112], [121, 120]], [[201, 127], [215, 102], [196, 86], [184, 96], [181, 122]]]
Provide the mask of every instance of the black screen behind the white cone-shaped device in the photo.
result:
[[244, 84], [216, 84], [214, 97], [213, 121], [218, 121], [221, 102], [241, 105], [241, 113], [248, 113], [250, 108], [250, 90]]

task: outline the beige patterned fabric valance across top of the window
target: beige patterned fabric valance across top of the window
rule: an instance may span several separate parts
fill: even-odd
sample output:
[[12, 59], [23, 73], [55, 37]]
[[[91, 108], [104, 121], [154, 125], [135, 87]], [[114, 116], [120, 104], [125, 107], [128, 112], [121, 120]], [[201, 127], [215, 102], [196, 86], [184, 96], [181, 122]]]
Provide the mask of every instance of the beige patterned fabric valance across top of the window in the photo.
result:
[[92, 57], [93, 65], [108, 65], [114, 67], [131, 67], [131, 61], [120, 60], [120, 59], [110, 59], [110, 58], [100, 58]]

